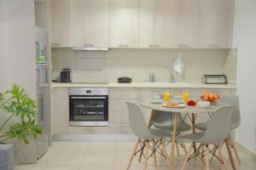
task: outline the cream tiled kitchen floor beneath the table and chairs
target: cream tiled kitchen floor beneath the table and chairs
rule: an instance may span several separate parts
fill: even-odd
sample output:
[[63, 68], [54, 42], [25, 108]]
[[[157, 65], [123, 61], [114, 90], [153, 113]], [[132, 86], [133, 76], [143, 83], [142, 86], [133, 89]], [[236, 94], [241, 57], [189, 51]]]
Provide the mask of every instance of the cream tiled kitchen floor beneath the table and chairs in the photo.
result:
[[[125, 169], [131, 156], [135, 142], [54, 142], [48, 152], [35, 165], [15, 165], [15, 170], [122, 170]], [[170, 150], [167, 148], [167, 150]], [[180, 152], [183, 150], [180, 149]], [[256, 159], [238, 148], [241, 165], [238, 169], [256, 169]], [[180, 168], [184, 156], [176, 156], [176, 169]], [[227, 158], [224, 148], [224, 156]], [[143, 169], [137, 156], [132, 162], [131, 170]], [[226, 159], [226, 161], [228, 161]], [[186, 169], [201, 169], [201, 161], [190, 161]], [[158, 156], [158, 167], [154, 167], [153, 159], [148, 163], [148, 169], [167, 169], [166, 160]], [[213, 160], [211, 169], [220, 169], [218, 161]], [[221, 169], [224, 169], [221, 166]]]

